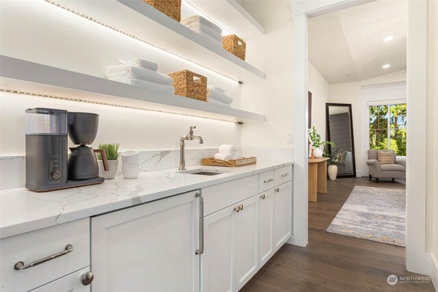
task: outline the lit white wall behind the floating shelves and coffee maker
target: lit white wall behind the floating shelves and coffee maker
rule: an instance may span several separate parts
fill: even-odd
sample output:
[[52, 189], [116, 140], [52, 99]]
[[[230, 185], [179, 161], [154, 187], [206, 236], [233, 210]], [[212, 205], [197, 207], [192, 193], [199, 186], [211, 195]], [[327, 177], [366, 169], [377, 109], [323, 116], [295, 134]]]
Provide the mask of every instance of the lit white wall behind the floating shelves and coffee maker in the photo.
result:
[[[45, 1], [1, 1], [0, 19], [2, 55], [98, 77], [103, 77], [105, 66], [117, 64], [118, 59], [144, 57], [158, 62], [161, 72], [183, 68], [199, 72], [208, 77], [209, 83], [225, 88], [235, 98], [234, 107], [240, 105], [240, 85], [237, 82]], [[248, 58], [248, 61], [251, 59]], [[188, 148], [214, 148], [225, 143], [240, 145], [242, 127], [229, 122], [4, 92], [0, 93], [0, 103], [1, 155], [25, 153], [24, 109], [29, 107], [53, 107], [100, 114], [99, 133], [94, 144], [119, 142], [120, 150], [178, 148], [179, 137], [188, 131], [190, 125], [196, 125], [195, 133], [203, 136], [205, 144], [190, 142]]]

